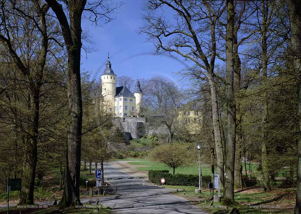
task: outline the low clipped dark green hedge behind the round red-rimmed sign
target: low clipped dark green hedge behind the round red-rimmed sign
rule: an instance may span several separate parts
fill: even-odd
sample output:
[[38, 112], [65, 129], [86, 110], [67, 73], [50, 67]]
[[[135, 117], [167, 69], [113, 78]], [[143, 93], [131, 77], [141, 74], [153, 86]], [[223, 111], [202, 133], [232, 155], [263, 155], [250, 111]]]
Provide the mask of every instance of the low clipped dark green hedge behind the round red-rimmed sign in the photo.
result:
[[[160, 179], [165, 178], [165, 185], [173, 186], [199, 186], [199, 175], [170, 174], [168, 170], [149, 170], [148, 178], [154, 184], [160, 184]], [[211, 182], [210, 175], [202, 175], [202, 186], [207, 187]]]

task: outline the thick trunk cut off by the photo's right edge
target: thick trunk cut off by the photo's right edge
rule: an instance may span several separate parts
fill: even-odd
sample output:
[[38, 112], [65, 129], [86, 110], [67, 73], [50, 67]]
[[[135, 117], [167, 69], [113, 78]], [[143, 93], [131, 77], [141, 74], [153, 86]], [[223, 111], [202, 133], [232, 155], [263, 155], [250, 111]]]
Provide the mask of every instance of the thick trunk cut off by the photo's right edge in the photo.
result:
[[298, 163], [297, 163], [297, 188], [296, 206], [294, 214], [301, 213], [301, 1], [287, 0], [290, 15], [291, 30], [291, 53], [293, 69], [296, 74], [297, 95], [298, 95], [298, 115], [299, 119], [299, 141], [298, 141]]

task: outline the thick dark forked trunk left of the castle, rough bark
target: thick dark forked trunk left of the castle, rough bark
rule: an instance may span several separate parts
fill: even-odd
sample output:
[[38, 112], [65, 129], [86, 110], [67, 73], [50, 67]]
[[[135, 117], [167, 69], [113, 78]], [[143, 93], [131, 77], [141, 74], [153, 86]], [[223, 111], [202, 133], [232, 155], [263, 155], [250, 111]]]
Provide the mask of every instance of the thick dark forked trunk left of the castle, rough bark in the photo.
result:
[[68, 1], [69, 23], [63, 6], [57, 1], [46, 0], [54, 11], [63, 32], [68, 52], [67, 96], [68, 126], [66, 145], [66, 176], [60, 207], [81, 205], [79, 177], [81, 164], [82, 93], [80, 79], [81, 20], [86, 0]]

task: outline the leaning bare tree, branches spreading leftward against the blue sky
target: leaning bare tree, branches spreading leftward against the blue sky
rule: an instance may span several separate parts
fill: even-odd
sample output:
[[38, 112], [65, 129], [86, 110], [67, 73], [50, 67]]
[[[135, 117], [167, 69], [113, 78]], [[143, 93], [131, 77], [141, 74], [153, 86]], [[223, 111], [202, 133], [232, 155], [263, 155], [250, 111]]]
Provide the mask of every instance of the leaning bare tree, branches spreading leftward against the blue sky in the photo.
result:
[[[160, 14], [161, 8], [171, 10], [174, 21]], [[154, 41], [157, 53], [182, 56], [204, 71], [201, 79], [206, 79], [210, 85], [217, 172], [221, 175], [221, 188], [224, 186], [224, 154], [215, 79], [225, 80], [215, 73], [215, 60], [216, 23], [225, 8], [224, 2], [219, 1], [150, 0], [144, 7], [143, 19], [146, 23], [141, 28], [141, 33], [146, 33], [149, 40]]]

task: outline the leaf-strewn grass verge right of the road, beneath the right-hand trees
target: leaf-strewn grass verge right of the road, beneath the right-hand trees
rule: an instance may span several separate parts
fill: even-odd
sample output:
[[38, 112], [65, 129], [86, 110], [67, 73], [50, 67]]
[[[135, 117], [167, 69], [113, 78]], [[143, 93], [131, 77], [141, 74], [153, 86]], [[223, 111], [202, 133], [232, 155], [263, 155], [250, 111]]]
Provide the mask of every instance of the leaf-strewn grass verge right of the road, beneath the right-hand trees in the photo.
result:
[[[203, 190], [201, 194], [195, 193], [196, 187], [189, 186], [170, 186], [163, 185], [166, 188], [178, 189], [178, 192], [174, 194], [185, 198], [194, 198], [196, 201], [199, 197], [209, 198], [209, 190]], [[184, 190], [185, 189], [185, 195]], [[215, 192], [215, 194], [217, 194]], [[222, 192], [221, 192], [222, 195]], [[292, 189], [275, 189], [271, 192], [262, 192], [259, 188], [248, 189], [242, 192], [234, 193], [234, 200], [239, 203], [237, 209], [241, 214], [290, 214], [293, 213], [295, 206], [295, 194]], [[211, 213], [228, 213], [225, 209], [218, 208], [221, 203], [213, 203], [212, 207], [209, 207], [209, 203], [195, 203], [200, 209], [207, 209]], [[260, 207], [261, 206], [261, 207]]]

